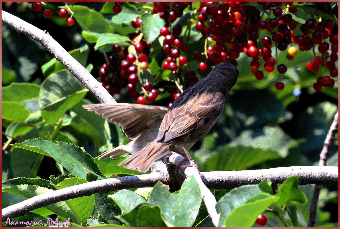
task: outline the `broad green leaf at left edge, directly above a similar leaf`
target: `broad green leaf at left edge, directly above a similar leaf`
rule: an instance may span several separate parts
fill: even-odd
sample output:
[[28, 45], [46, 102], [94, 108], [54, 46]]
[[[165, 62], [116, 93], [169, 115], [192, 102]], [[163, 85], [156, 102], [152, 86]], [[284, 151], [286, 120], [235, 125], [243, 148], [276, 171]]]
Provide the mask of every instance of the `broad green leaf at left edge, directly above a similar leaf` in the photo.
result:
[[2, 102], [22, 102], [38, 98], [40, 86], [34, 83], [12, 83], [1, 90]]

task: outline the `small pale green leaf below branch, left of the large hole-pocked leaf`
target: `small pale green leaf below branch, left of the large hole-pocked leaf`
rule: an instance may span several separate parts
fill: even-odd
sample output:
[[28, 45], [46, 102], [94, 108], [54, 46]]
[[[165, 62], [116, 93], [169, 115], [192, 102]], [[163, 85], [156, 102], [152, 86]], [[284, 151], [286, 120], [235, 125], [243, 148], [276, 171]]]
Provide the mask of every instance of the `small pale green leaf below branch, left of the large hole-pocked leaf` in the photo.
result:
[[108, 197], [112, 198], [119, 208], [126, 213], [132, 211], [140, 204], [147, 203], [143, 197], [126, 189], [120, 190], [115, 194], [108, 195]]

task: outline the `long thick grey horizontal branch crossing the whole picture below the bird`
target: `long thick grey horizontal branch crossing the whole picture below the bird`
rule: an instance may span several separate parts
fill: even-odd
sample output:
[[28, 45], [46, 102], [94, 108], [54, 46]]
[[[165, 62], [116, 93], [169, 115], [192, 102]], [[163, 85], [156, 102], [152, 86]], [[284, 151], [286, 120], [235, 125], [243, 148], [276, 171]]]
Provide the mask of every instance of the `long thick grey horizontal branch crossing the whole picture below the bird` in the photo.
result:
[[[338, 184], [338, 167], [331, 166], [293, 166], [249, 171], [202, 172], [203, 183], [209, 189], [235, 188], [242, 185], [258, 184], [262, 179], [282, 183], [286, 178], [297, 175], [301, 185]], [[87, 196], [94, 193], [126, 188], [153, 187], [157, 181], [168, 184], [169, 179], [162, 172], [96, 180], [80, 185], [51, 191], [34, 196], [20, 203], [2, 209], [2, 221], [59, 201]]]

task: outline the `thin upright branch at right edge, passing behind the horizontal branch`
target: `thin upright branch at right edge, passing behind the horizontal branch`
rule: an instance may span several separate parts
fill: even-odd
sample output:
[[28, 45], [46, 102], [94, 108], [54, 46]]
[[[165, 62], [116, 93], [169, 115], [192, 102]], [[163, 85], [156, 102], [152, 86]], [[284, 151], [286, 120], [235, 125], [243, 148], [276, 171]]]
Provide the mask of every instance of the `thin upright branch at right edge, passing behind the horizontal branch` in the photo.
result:
[[[329, 156], [329, 148], [334, 141], [335, 133], [338, 131], [338, 125], [339, 125], [339, 121], [338, 121], [339, 114], [338, 113], [339, 111], [334, 116], [334, 120], [332, 124], [330, 125], [328, 134], [323, 144], [323, 148], [320, 153], [319, 166], [326, 166], [327, 158]], [[310, 208], [309, 208], [309, 220], [308, 220], [307, 227], [314, 227], [314, 224], [316, 222], [318, 200], [319, 200], [319, 194], [320, 194], [321, 188], [322, 188], [321, 184], [317, 184], [314, 187], [313, 197], [312, 197]]]

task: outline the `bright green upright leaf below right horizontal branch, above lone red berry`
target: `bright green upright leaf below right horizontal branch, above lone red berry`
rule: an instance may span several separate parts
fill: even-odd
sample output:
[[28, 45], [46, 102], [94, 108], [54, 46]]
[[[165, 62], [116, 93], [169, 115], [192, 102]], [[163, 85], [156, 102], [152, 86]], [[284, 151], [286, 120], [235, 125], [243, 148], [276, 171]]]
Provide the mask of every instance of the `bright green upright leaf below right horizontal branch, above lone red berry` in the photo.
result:
[[283, 207], [283, 209], [286, 206], [306, 204], [307, 197], [305, 193], [301, 191], [299, 185], [300, 182], [297, 176], [287, 178], [283, 184], [278, 187], [280, 192], [275, 194], [275, 196], [280, 197], [277, 204]]

